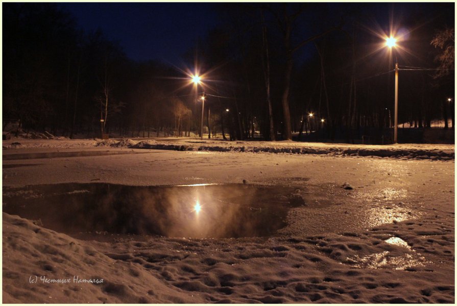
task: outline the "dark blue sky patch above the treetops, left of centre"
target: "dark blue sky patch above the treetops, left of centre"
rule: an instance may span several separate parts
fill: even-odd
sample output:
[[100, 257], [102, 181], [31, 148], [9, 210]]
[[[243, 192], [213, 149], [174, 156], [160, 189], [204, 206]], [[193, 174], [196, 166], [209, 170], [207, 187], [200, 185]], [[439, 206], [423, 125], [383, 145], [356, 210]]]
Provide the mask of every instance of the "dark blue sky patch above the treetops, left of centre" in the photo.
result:
[[133, 60], [176, 63], [218, 23], [213, 4], [204, 3], [61, 3], [79, 26], [100, 28], [119, 41]]

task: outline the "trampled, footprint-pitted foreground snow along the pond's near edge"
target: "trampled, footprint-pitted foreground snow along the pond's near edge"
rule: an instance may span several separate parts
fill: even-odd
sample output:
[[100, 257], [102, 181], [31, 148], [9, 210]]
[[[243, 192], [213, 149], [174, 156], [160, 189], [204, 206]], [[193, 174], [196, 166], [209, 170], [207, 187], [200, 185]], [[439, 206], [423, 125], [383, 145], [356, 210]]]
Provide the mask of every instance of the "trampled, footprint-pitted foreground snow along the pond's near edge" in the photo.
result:
[[[3, 214], [3, 220], [6, 303], [454, 301], [453, 234], [438, 222], [426, 230], [412, 221], [397, 229], [388, 225], [325, 237], [132, 237], [107, 243], [79, 241], [17, 216]], [[427, 244], [430, 239], [436, 245]], [[430, 252], [432, 258], [443, 254], [449, 270], [427, 261], [422, 252], [427, 258]], [[75, 275], [103, 283], [74, 283]], [[43, 276], [70, 281], [43, 283]]]

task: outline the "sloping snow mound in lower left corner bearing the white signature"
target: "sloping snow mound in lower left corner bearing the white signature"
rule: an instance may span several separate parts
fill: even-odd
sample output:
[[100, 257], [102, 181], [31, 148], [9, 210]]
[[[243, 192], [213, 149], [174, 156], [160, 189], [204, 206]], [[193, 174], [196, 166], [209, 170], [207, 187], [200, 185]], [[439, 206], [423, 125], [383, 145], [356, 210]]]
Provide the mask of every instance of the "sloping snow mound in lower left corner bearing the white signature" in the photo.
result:
[[88, 243], [3, 214], [4, 303], [165, 303], [198, 299]]

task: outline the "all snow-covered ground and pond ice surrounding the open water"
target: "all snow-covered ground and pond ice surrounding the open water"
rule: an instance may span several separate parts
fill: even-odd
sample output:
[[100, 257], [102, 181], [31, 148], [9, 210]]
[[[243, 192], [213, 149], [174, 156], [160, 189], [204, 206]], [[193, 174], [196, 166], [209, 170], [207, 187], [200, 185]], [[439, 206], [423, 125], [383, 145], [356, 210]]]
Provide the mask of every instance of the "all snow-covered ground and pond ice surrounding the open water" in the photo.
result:
[[4, 213], [3, 302], [454, 302], [454, 146], [13, 139], [3, 147], [4, 211], [10, 190], [61, 183], [285, 186], [305, 202], [275, 235], [251, 238], [77, 239]]

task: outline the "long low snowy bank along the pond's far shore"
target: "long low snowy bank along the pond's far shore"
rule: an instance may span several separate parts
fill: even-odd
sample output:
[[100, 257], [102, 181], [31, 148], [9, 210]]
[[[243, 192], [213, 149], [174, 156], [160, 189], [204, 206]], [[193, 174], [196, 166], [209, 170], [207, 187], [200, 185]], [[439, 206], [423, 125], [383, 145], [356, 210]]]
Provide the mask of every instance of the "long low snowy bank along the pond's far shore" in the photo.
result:
[[22, 139], [3, 141], [4, 149], [30, 148], [30, 147], [117, 147], [117, 148], [138, 148], [138, 149], [159, 149], [177, 151], [218, 151], [218, 152], [255, 152], [274, 154], [312, 154], [327, 156], [360, 156], [380, 158], [400, 158], [417, 160], [454, 160], [454, 145], [444, 144], [395, 144], [395, 145], [350, 145], [331, 143], [304, 143], [287, 141], [221, 141], [218, 139], [197, 141], [196, 139], [175, 139], [170, 141], [163, 139], [132, 140], [132, 139]]

